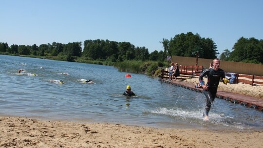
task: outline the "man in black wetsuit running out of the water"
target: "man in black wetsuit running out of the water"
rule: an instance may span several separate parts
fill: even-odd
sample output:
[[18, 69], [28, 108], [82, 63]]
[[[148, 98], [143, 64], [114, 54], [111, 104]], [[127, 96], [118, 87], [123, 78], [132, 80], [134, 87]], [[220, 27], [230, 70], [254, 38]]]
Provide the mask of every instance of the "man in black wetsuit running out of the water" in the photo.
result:
[[[202, 85], [202, 88], [204, 89], [203, 93], [207, 98], [207, 105], [204, 112], [205, 120], [209, 120], [208, 113], [210, 111], [211, 104], [216, 97], [216, 92], [220, 78], [225, 79], [225, 72], [224, 70], [220, 69], [219, 66], [220, 66], [220, 60], [218, 58], [215, 58], [213, 60], [213, 67], [206, 69], [199, 76], [199, 82]], [[207, 75], [207, 85], [205, 85], [203, 82], [203, 77], [205, 75]], [[223, 83], [226, 85], [227, 82], [223, 81]]]

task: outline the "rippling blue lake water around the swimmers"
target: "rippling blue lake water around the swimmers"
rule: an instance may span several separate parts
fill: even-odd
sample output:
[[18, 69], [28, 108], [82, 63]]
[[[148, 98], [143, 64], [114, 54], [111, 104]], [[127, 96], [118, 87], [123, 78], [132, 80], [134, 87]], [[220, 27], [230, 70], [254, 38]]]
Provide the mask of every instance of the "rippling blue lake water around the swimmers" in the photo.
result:
[[[19, 69], [25, 71], [17, 74]], [[263, 129], [261, 111], [216, 98], [205, 122], [204, 94], [126, 74], [112, 66], [0, 55], [0, 114], [157, 128]], [[127, 85], [136, 97], [122, 96]]]

